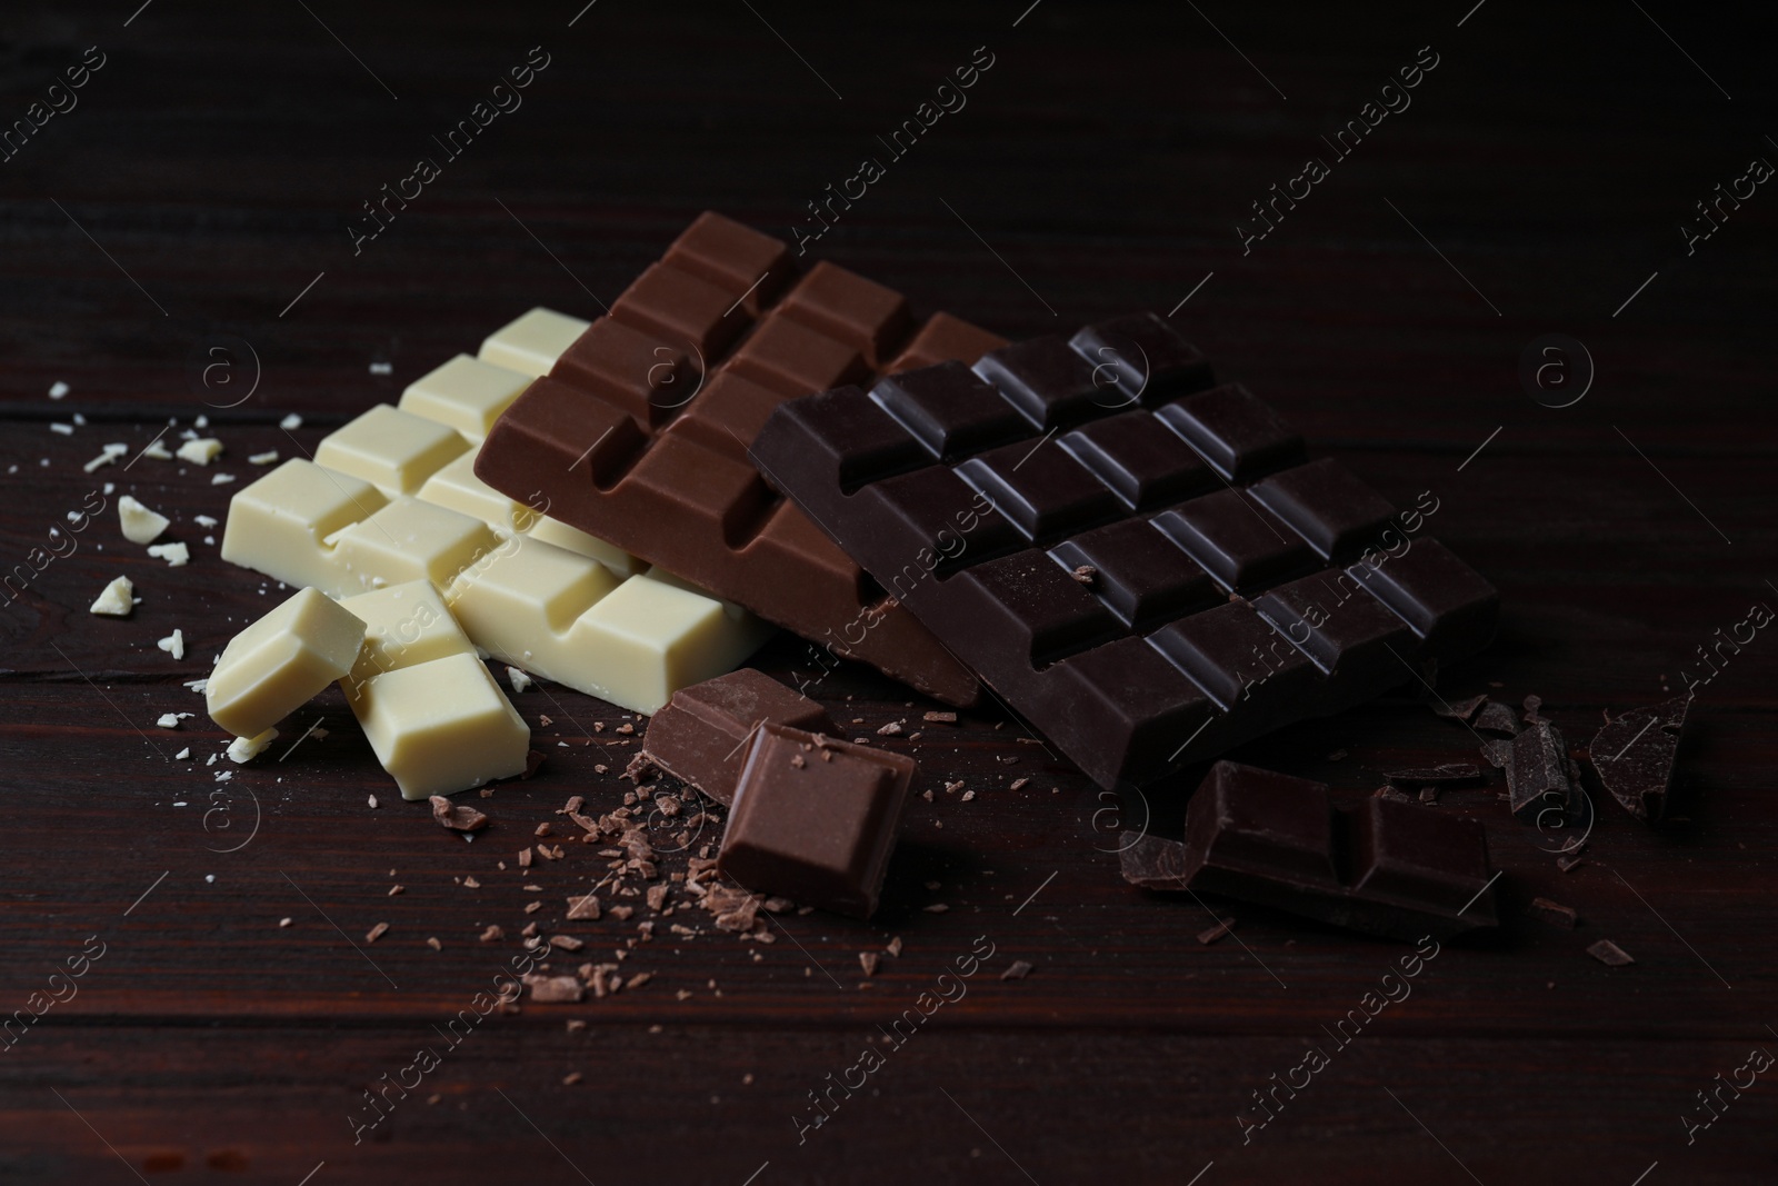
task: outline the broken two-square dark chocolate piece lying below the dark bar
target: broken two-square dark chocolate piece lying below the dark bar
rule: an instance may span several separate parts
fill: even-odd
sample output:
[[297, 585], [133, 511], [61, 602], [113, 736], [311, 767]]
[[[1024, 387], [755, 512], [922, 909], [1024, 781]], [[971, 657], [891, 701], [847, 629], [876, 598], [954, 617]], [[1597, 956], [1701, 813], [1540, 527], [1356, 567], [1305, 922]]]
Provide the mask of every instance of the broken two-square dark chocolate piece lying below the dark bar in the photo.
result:
[[1389, 798], [1335, 805], [1323, 782], [1220, 761], [1186, 839], [1125, 832], [1124, 880], [1211, 893], [1390, 939], [1495, 926], [1488, 837], [1474, 820]]

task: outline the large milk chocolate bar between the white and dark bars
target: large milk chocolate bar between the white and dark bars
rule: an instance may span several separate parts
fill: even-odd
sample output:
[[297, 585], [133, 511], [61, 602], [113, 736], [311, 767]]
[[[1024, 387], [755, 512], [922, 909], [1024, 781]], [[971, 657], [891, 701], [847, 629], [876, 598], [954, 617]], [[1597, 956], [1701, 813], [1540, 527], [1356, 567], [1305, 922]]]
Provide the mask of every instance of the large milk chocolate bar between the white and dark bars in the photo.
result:
[[1005, 345], [901, 293], [701, 215], [494, 423], [475, 473], [951, 704], [974, 674], [747, 459], [781, 402]]

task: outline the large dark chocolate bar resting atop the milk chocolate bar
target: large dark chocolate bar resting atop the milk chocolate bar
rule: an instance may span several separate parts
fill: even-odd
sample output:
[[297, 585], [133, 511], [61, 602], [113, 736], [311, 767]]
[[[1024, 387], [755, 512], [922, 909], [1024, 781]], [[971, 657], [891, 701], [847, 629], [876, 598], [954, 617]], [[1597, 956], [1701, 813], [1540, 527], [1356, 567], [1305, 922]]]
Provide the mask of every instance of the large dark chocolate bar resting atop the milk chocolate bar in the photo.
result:
[[1093, 781], [1143, 782], [1463, 658], [1499, 606], [1209, 382], [1122, 317], [784, 404], [752, 457]]

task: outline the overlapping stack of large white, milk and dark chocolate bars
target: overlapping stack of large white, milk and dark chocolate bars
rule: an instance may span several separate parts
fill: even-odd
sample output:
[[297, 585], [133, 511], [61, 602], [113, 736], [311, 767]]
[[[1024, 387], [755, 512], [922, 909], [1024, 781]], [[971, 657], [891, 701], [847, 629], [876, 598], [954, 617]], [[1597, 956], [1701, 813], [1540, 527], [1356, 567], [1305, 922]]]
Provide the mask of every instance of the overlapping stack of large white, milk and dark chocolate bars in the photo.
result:
[[[985, 685], [1111, 788], [1483, 647], [1495, 590], [1417, 526], [1161, 317], [1008, 343], [704, 213], [606, 317], [533, 309], [242, 491], [229, 541], [336, 597], [430, 578], [482, 649], [645, 713], [772, 622]], [[773, 729], [747, 768], [834, 765]]]

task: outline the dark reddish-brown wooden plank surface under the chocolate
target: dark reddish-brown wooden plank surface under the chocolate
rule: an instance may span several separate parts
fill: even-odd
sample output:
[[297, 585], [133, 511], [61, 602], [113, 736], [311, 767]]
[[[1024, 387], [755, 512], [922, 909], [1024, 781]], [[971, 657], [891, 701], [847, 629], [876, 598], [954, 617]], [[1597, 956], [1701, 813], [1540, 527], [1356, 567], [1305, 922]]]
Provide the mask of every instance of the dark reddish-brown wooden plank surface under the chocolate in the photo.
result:
[[[1778, 1175], [1769, 1074], [1691, 1142], [1682, 1122], [1751, 1047], [1778, 1051], [1769, 631], [1698, 688], [1677, 820], [1650, 829], [1602, 800], [1588, 862], [1561, 873], [1497, 788], [1447, 795], [1437, 811], [1488, 827], [1506, 925], [1447, 944], [1250, 1143], [1236, 1117], [1257, 1115], [1252, 1094], [1330, 1047], [1325, 1026], [1406, 950], [1214, 902], [1236, 932], [1195, 942], [1207, 910], [1125, 887], [1111, 855], [1120, 825], [1175, 827], [1179, 788], [1113, 809], [996, 711], [884, 740], [921, 759], [935, 797], [912, 811], [878, 919], [786, 916], [757, 944], [692, 910], [663, 921], [701, 934], [663, 928], [624, 960], [651, 983], [526, 1003], [448, 1047], [437, 1028], [526, 921], [585, 939], [576, 962], [635, 935], [560, 921], [603, 873], [589, 848], [496, 868], [569, 795], [617, 805], [628, 784], [594, 766], [628, 759], [624, 715], [558, 688], [516, 697], [548, 763], [480, 800], [494, 825], [464, 845], [395, 797], [338, 693], [286, 727], [322, 718], [329, 736], [217, 784], [203, 761], [226, 738], [181, 686], [276, 594], [224, 565], [192, 516], [226, 514], [249, 453], [292, 455], [281, 416], [302, 413], [295, 443], [313, 448], [532, 304], [592, 315], [702, 208], [789, 236], [987, 46], [967, 107], [885, 160], [811, 258], [1006, 334], [1165, 313], [1213, 274], [1175, 318], [1220, 372], [1387, 494], [1435, 491], [1438, 537], [1501, 587], [1499, 642], [1442, 692], [1538, 693], [1581, 749], [1604, 708], [1678, 692], [1712, 631], [1778, 603], [1778, 196], [1762, 187], [1694, 254], [1680, 235], [1718, 183], [1778, 160], [1769, 12], [601, 0], [569, 27], [580, 0], [132, 9], [0, 14], [0, 119], [87, 46], [107, 55], [78, 107], [0, 164], [0, 567], [103, 482], [172, 516], [169, 539], [194, 551], [169, 569], [107, 512], [0, 606], [0, 1012], [103, 944], [78, 994], [0, 1053], [0, 1182]], [[1319, 137], [1426, 44], [1438, 66], [1412, 107], [1332, 162]], [[551, 64], [525, 107], [354, 256], [359, 203], [532, 46]], [[1236, 222], [1305, 155], [1332, 174], [1243, 254]], [[1549, 333], [1597, 365], [1574, 407], [1518, 382]], [[260, 372], [228, 411], [204, 404], [240, 398], [252, 366], [204, 388], [192, 365], [222, 338]], [[50, 402], [57, 381], [73, 391]], [[133, 455], [169, 416], [183, 429], [206, 411], [236, 485], [149, 459], [82, 473], [103, 443]], [[73, 437], [48, 429], [75, 413]], [[89, 615], [119, 573], [135, 615]], [[155, 647], [172, 628], [183, 661]], [[781, 676], [797, 661], [786, 638], [759, 656]], [[820, 697], [861, 736], [928, 708], [855, 669]], [[199, 715], [156, 729], [165, 711]], [[194, 759], [172, 759], [185, 745]], [[1239, 756], [1364, 795], [1474, 743], [1403, 693]], [[957, 781], [973, 800], [944, 791]], [[1524, 918], [1538, 894], [1581, 926]], [[532, 900], [546, 905], [526, 916]], [[478, 942], [491, 923], [507, 939]], [[866, 980], [857, 953], [894, 935], [900, 958]], [[809, 1092], [873, 1040], [887, 1049], [878, 1028], [978, 937], [994, 957], [967, 996], [800, 1142]], [[1636, 964], [1595, 962], [1597, 939]], [[1001, 980], [1012, 960], [1029, 976]], [[354, 1143], [363, 1094], [421, 1046], [441, 1065]]]

